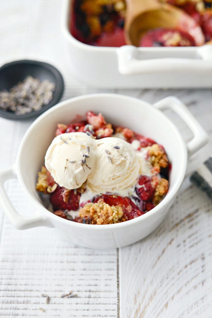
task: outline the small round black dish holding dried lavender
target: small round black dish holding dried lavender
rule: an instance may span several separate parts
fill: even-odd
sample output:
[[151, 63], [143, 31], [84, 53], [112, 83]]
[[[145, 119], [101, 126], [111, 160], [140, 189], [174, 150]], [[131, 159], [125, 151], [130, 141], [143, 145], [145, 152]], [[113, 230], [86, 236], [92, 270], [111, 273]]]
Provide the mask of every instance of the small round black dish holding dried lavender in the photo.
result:
[[38, 78], [40, 81], [47, 79], [55, 84], [52, 100], [48, 105], [44, 105], [41, 109], [24, 115], [16, 115], [11, 111], [4, 111], [0, 109], [1, 117], [12, 120], [38, 117], [47, 109], [57, 104], [60, 100], [64, 90], [62, 75], [54, 66], [39, 61], [20, 60], [4, 64], [0, 67], [0, 91], [9, 90], [18, 82], [22, 82], [28, 75]]

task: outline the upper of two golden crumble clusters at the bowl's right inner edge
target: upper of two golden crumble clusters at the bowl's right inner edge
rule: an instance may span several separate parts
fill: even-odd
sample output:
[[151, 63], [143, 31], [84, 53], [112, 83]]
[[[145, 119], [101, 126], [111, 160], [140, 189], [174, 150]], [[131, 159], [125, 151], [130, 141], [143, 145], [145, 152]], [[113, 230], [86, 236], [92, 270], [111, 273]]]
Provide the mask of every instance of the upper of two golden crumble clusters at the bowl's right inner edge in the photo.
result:
[[157, 143], [149, 147], [148, 156], [153, 167], [166, 168], [168, 166], [168, 157], [165, 150]]

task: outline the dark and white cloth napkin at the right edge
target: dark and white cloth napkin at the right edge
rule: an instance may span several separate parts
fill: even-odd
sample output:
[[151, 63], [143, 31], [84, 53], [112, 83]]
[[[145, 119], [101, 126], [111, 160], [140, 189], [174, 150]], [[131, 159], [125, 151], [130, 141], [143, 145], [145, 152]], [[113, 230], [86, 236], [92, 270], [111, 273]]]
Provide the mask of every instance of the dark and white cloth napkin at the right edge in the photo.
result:
[[212, 200], [212, 156], [192, 174], [190, 180]]

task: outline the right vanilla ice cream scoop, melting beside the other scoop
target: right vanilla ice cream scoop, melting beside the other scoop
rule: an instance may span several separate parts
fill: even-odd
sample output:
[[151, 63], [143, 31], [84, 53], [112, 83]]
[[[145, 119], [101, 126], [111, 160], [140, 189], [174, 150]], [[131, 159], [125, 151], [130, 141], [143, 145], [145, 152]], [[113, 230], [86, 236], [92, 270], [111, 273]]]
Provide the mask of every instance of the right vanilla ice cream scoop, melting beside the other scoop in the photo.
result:
[[94, 170], [88, 175], [88, 186], [100, 193], [130, 186], [139, 175], [139, 162], [130, 143], [115, 137], [95, 141], [97, 157]]

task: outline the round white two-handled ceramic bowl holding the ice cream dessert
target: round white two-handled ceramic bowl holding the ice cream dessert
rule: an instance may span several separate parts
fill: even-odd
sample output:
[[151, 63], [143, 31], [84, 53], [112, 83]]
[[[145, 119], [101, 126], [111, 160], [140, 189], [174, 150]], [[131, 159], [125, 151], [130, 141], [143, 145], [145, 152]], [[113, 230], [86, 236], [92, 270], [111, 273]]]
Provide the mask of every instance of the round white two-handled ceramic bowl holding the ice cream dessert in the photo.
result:
[[[173, 123], [161, 112], [171, 108], [188, 124], [194, 137], [185, 144]], [[54, 138], [57, 123], [69, 123], [76, 115], [88, 110], [101, 112], [108, 122], [132, 128], [162, 144], [172, 163], [170, 188], [163, 201], [153, 210], [133, 220], [111, 225], [79, 224], [60, 218], [43, 206], [35, 190], [37, 173]], [[52, 107], [27, 130], [20, 145], [14, 168], [0, 173], [0, 201], [5, 213], [17, 229], [36, 226], [57, 228], [70, 241], [91, 248], [116, 248], [132, 244], [148, 234], [163, 221], [183, 181], [188, 155], [200, 149], [208, 140], [203, 128], [188, 109], [176, 98], [168, 97], [154, 107], [147, 102], [116, 94], [92, 94], [63, 101]], [[36, 206], [33, 217], [18, 214], [4, 189], [7, 179], [18, 178], [26, 195]]]

